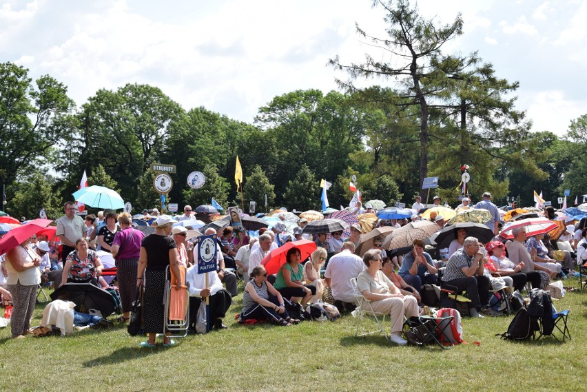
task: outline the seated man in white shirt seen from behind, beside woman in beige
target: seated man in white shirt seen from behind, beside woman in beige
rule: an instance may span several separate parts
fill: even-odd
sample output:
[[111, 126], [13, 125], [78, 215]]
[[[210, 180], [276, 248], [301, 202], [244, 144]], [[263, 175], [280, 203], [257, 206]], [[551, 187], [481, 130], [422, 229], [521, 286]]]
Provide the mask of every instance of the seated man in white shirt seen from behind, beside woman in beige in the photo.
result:
[[351, 286], [351, 278], [356, 278], [365, 267], [362, 258], [354, 252], [355, 244], [351, 242], [342, 244], [342, 251], [332, 256], [324, 273], [325, 283], [332, 289], [332, 296], [337, 301], [335, 305], [343, 311], [351, 311], [356, 307], [355, 290]]

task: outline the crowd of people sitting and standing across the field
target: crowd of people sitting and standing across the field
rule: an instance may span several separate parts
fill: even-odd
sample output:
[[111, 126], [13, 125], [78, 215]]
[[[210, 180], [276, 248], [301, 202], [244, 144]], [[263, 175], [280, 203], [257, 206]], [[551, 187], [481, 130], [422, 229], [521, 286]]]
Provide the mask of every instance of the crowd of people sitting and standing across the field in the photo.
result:
[[[457, 208], [470, 209], [473, 206], [469, 203], [469, 198], [464, 198]], [[439, 204], [440, 198], [435, 197], [433, 205]], [[372, 206], [365, 207], [366, 211], [358, 205], [353, 212], [372, 213]], [[418, 212], [426, 207], [419, 196], [412, 207], [411, 218], [375, 220], [371, 229], [384, 226], [396, 229], [409, 221], [420, 220]], [[101, 250], [116, 260], [116, 286], [122, 310], [118, 322], [129, 321], [136, 290], [144, 290], [143, 324], [148, 338], [141, 347], [155, 347], [158, 334], [163, 336], [164, 346], [175, 344], [164, 327], [163, 298], [168, 272], [182, 276], [181, 268], [185, 269], [185, 285], [192, 308], [189, 331], [195, 331], [196, 310], [205, 300], [209, 303], [212, 329], [226, 329], [223, 319], [238, 295], [238, 281], [243, 280], [240, 322], [298, 324], [300, 318], [292, 317], [287, 310], [288, 304], [296, 302], [305, 309], [311, 303], [324, 300], [333, 303], [341, 313], [348, 313], [356, 309], [357, 295], [360, 295], [371, 302], [375, 311], [389, 314], [391, 340], [403, 345], [407, 343], [402, 337], [404, 316], [410, 318], [427, 311], [422, 302], [424, 286], [439, 284], [439, 275], [447, 285], [466, 291], [471, 300], [468, 302], [470, 315], [483, 318], [484, 314], [491, 314], [488, 302], [492, 289], [504, 285], [511, 291], [522, 291], [526, 283], [545, 289], [552, 280], [572, 273], [575, 259], [587, 260], [587, 228], [564, 231], [562, 238], [568, 236], [570, 250], [565, 250], [567, 253], [559, 261], [553, 257], [556, 249], [551, 249], [544, 234], [527, 238], [525, 227], [517, 227], [511, 231], [512, 240], [499, 236], [502, 218], [491, 202], [491, 194], [486, 192], [475, 208], [489, 212], [491, 219], [485, 225], [495, 238], [482, 244], [466, 229], [457, 229], [444, 260], [435, 260], [431, 246], [420, 239], [413, 240], [411, 248], [402, 252], [404, 254], [387, 257], [386, 250], [382, 249], [385, 236], [373, 238], [366, 248], [367, 242], [362, 237], [367, 231], [360, 225], [351, 225], [347, 238], [343, 238], [342, 231], [309, 236], [304, 231], [308, 225], [305, 218], [297, 220], [296, 227], [289, 227], [289, 231], [283, 223], [254, 232], [229, 223], [223, 227], [207, 227], [201, 234], [216, 235], [217, 258], [216, 269], [209, 272], [206, 283], [204, 276], [197, 273], [198, 247], [194, 241], [200, 233], [189, 235], [194, 233], [193, 227], [174, 226], [178, 221], [194, 217], [189, 205], [185, 206], [184, 214], [178, 216], [145, 209], [144, 219], [154, 227], [154, 232], [145, 236], [134, 227], [130, 214], [109, 211], [82, 218], [75, 214], [74, 203], [68, 202], [63, 206], [65, 215], [56, 220], [53, 238], [32, 236], [3, 256], [6, 287], [0, 286], [0, 294], [14, 305], [12, 336], [23, 338], [30, 329], [39, 285], [52, 284], [59, 288], [68, 282], [83, 282], [108, 287], [97, 252]], [[283, 216], [278, 216], [283, 220]], [[438, 231], [448, 225], [440, 214], [429, 216], [429, 219], [437, 225]], [[579, 232], [579, 236], [573, 236], [569, 230]], [[313, 252], [302, 256], [298, 247], [291, 247], [285, 252], [285, 262], [277, 273], [268, 274], [262, 260], [266, 260], [271, 251], [299, 240], [311, 240]], [[356, 287], [351, 282], [353, 279], [356, 279]], [[176, 285], [176, 289], [181, 287], [183, 285]]]

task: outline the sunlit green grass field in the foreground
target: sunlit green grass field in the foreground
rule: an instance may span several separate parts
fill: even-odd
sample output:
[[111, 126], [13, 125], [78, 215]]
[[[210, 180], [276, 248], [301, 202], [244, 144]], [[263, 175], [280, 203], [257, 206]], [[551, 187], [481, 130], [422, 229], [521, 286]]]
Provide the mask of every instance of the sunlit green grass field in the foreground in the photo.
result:
[[[577, 279], [565, 285], [578, 286]], [[464, 338], [480, 345], [397, 347], [382, 336], [356, 338], [355, 319], [292, 327], [229, 329], [141, 349], [122, 324], [65, 338], [10, 338], [0, 330], [1, 391], [586, 391], [587, 291], [555, 300], [570, 309], [573, 340], [506, 342], [513, 316], [464, 319]], [[38, 325], [44, 304], [37, 305]], [[112, 317], [114, 318], [114, 316]]]

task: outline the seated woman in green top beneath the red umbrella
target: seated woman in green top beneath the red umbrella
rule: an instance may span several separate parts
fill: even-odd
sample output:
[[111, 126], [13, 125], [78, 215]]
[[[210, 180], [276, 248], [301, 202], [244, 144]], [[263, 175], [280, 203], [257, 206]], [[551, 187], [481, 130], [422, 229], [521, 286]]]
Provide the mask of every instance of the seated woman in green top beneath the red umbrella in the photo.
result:
[[301, 300], [302, 307], [305, 307], [312, 296], [316, 295], [316, 286], [305, 285], [301, 259], [300, 249], [289, 249], [285, 254], [285, 263], [277, 273], [274, 286], [284, 298], [292, 302]]

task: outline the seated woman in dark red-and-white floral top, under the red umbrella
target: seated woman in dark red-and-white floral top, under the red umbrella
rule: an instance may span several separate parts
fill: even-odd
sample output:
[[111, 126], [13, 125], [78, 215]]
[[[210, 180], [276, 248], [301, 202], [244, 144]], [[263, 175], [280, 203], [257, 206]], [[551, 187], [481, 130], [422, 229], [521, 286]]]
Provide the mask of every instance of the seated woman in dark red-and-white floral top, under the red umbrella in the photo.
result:
[[85, 238], [75, 242], [75, 250], [68, 254], [61, 273], [61, 285], [68, 283], [91, 283], [101, 287], [98, 278], [102, 274], [103, 265], [92, 249], [87, 249]]

